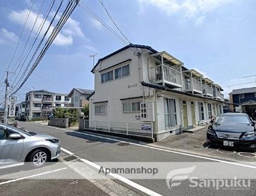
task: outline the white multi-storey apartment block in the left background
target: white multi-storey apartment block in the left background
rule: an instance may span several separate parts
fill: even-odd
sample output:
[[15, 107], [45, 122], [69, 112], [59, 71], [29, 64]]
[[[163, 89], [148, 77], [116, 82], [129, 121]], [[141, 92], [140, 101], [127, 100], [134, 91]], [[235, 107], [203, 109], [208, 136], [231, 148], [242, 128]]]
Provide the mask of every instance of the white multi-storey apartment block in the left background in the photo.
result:
[[46, 90], [30, 91], [26, 94], [25, 115], [28, 117], [48, 116], [55, 107], [65, 107], [70, 98], [67, 94], [57, 94]]

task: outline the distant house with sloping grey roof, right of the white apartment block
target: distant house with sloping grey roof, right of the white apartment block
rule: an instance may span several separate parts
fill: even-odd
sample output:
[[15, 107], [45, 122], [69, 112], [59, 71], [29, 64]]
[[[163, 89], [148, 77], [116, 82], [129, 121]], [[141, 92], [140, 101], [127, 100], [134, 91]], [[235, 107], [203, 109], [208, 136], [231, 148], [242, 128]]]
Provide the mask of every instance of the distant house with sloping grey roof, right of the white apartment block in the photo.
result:
[[82, 89], [82, 88], [73, 88], [68, 97], [71, 98], [71, 107], [84, 107], [89, 104], [87, 97], [93, 92], [93, 90]]

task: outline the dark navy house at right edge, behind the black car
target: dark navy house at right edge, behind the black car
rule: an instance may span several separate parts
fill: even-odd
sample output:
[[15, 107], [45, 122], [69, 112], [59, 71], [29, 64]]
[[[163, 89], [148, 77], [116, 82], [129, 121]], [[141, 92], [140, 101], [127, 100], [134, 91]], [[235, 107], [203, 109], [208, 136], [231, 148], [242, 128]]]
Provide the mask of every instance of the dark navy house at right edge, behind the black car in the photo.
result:
[[256, 119], [256, 87], [233, 89], [229, 100], [233, 112], [247, 113]]

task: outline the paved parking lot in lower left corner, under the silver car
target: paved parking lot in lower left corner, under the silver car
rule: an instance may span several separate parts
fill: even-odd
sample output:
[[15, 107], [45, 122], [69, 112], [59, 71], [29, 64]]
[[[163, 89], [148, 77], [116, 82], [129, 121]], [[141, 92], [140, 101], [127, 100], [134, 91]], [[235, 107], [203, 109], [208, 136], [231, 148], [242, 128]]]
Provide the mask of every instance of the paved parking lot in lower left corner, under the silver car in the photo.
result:
[[111, 179], [93, 180], [90, 175], [98, 171], [79, 159], [62, 152], [59, 160], [42, 168], [0, 169], [0, 195], [138, 195]]

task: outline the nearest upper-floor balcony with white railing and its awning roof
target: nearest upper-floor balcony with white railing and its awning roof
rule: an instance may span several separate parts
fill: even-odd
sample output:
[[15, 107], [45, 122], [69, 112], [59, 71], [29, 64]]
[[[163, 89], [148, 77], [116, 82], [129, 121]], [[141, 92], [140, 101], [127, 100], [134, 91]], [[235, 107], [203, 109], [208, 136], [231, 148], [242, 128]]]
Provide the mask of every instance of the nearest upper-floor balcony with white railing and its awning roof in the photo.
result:
[[166, 85], [169, 88], [181, 88], [183, 63], [165, 51], [150, 56], [159, 64], [150, 68], [151, 82]]

